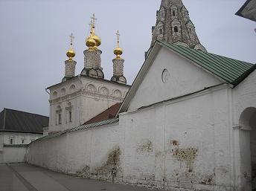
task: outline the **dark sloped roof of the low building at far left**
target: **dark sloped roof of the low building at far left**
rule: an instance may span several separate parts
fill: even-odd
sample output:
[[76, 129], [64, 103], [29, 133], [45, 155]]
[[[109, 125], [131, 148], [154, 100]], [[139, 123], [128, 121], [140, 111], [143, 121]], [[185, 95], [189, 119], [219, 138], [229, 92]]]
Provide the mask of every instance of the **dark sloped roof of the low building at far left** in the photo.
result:
[[0, 113], [0, 131], [29, 132], [42, 134], [42, 128], [48, 126], [49, 117], [24, 111], [4, 109]]

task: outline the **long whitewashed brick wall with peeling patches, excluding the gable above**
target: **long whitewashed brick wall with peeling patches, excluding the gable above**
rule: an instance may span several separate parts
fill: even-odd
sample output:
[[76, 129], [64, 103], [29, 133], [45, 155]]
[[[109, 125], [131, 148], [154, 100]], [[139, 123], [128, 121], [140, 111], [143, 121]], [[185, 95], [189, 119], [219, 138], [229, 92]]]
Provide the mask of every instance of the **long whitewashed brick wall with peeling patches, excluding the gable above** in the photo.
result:
[[224, 85], [121, 114], [119, 125], [39, 140], [29, 146], [27, 161], [112, 180], [109, 155], [119, 147], [115, 181], [172, 190], [235, 190], [238, 175], [232, 143], [237, 140], [231, 136], [235, 133], [230, 123], [231, 94], [234, 91]]

